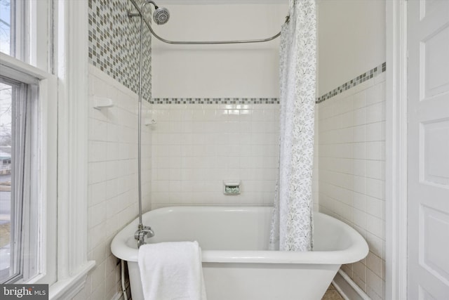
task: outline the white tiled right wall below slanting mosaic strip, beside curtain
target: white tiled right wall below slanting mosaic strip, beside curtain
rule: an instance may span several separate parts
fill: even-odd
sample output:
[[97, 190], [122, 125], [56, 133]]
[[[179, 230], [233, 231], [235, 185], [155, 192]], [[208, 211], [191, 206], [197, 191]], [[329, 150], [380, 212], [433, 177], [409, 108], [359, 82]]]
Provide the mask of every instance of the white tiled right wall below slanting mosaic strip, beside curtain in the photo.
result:
[[366, 238], [366, 259], [342, 266], [385, 299], [385, 73], [319, 104], [319, 210]]

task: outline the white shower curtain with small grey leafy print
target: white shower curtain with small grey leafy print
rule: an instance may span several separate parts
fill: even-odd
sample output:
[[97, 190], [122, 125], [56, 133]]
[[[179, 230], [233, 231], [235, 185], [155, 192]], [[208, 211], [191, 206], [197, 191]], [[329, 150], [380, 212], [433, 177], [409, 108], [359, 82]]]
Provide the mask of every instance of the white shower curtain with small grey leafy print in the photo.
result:
[[316, 86], [315, 0], [290, 0], [281, 30], [279, 180], [269, 249], [310, 251]]

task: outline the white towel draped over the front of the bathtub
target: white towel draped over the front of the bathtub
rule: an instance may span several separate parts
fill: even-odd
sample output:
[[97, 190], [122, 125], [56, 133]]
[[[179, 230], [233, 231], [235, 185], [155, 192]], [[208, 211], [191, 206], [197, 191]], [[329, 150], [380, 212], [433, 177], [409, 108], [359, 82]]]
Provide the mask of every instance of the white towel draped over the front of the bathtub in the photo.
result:
[[138, 262], [145, 300], [206, 300], [198, 242], [144, 244]]

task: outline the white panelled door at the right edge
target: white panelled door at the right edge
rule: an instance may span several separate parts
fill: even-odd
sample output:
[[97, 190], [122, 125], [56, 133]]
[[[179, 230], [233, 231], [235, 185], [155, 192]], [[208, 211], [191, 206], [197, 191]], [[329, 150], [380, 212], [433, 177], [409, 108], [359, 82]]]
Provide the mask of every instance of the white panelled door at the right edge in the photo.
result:
[[408, 299], [449, 299], [449, 0], [408, 3]]

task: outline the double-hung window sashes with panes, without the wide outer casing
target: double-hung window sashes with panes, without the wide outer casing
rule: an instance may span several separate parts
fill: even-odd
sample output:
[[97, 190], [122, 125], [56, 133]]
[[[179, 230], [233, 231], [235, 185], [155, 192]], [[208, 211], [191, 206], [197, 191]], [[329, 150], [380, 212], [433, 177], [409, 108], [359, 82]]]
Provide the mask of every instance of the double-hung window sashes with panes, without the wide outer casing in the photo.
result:
[[53, 4], [0, 0], [0, 283], [56, 278]]

